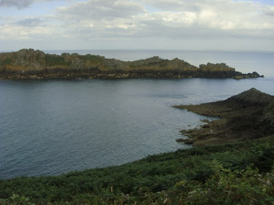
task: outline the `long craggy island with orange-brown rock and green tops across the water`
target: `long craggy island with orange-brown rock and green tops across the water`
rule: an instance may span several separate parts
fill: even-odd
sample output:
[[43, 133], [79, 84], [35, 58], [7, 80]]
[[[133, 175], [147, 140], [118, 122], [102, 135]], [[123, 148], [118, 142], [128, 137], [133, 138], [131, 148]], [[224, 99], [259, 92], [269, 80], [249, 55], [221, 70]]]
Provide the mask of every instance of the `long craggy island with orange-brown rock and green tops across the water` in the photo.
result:
[[175, 58], [154, 56], [136, 61], [107, 59], [100, 55], [47, 54], [34, 49], [0, 53], [0, 80], [8, 79], [138, 79], [138, 78], [233, 78], [264, 77], [242, 74], [226, 64], [201, 64], [199, 68]]

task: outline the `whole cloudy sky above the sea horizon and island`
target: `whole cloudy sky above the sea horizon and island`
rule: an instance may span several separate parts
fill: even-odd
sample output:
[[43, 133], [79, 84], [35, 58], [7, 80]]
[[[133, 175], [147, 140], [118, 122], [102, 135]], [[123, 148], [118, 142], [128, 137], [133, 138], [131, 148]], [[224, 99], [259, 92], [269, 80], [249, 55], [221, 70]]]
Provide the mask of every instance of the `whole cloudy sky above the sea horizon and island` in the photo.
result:
[[0, 51], [274, 51], [273, 0], [0, 0]]

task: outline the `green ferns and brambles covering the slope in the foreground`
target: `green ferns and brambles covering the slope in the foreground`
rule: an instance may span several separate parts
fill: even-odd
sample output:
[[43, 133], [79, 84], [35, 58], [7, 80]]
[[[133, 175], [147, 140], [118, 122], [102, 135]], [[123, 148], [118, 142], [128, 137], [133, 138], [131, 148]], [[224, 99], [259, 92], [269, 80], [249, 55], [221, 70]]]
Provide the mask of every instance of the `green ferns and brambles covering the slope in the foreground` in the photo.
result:
[[274, 135], [61, 176], [0, 180], [0, 204], [273, 204]]

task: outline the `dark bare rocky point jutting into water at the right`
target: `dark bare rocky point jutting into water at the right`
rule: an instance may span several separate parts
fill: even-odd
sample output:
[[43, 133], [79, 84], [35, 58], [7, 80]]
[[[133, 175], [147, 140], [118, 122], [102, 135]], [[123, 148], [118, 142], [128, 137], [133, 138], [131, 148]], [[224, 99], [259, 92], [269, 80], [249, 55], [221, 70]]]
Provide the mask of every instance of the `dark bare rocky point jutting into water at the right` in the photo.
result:
[[206, 124], [198, 128], [182, 130], [182, 135], [188, 138], [177, 139], [178, 142], [218, 144], [255, 139], [274, 133], [274, 96], [255, 88], [227, 100], [175, 107], [219, 118], [212, 122], [205, 120]]

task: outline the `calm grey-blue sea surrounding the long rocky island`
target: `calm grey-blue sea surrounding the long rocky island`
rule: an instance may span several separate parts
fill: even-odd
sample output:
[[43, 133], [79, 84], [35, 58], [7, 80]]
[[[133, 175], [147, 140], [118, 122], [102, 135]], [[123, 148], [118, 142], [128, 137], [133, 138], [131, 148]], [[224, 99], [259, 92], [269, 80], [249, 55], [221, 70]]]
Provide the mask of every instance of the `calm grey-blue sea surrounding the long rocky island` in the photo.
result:
[[160, 56], [226, 63], [258, 79], [71, 79], [0, 81], [0, 179], [121, 165], [187, 149], [182, 129], [214, 120], [173, 105], [225, 100], [252, 87], [274, 95], [274, 53], [232, 51], [45, 51], [132, 61]]

